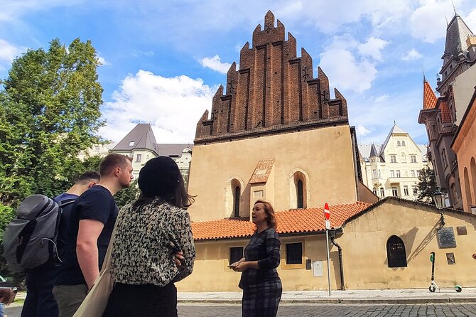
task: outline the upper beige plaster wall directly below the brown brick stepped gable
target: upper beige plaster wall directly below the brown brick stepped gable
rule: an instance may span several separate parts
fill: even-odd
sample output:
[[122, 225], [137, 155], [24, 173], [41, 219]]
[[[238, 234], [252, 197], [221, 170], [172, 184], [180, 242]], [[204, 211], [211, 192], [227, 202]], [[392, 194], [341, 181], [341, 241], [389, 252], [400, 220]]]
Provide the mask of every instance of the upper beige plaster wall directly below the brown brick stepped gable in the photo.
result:
[[[308, 173], [306, 180], [308, 207], [352, 203], [357, 200], [350, 127], [338, 126], [309, 131], [261, 136], [193, 147], [188, 192], [197, 195], [189, 208], [192, 220], [212, 220], [232, 216], [226, 208], [230, 177], [241, 178], [240, 215], [250, 210], [249, 179], [260, 160], [275, 159], [275, 210], [296, 208], [290, 203], [291, 171], [299, 168]], [[272, 193], [269, 190], [269, 193]], [[229, 198], [228, 198], [229, 199]]]

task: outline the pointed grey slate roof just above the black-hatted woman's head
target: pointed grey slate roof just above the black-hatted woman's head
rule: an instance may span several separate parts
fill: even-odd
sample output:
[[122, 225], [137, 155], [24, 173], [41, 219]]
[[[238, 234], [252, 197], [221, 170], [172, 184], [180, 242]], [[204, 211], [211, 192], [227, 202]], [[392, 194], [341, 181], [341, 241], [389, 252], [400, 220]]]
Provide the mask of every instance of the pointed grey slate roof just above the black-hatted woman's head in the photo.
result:
[[131, 151], [134, 149], [147, 149], [158, 155], [156, 136], [153, 135], [151, 124], [139, 123], [124, 139], [114, 146], [112, 151]]

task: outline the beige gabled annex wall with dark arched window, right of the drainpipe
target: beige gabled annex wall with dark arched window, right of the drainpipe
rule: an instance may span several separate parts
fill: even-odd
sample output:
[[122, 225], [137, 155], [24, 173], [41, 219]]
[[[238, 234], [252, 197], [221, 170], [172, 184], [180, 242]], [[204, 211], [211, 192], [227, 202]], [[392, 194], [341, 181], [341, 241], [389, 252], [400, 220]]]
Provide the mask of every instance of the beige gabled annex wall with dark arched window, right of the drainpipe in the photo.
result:
[[[474, 274], [476, 252], [476, 218], [470, 215], [444, 213], [445, 227], [453, 227], [457, 247], [440, 249], [436, 228], [440, 214], [435, 208], [395, 200], [378, 206], [344, 228], [337, 239], [342, 245], [345, 286], [347, 289], [425, 288], [431, 281], [430, 252], [436, 252], [435, 279], [440, 287], [476, 286]], [[456, 227], [464, 225], [467, 235], [458, 235]], [[386, 241], [397, 235], [406, 247], [407, 267], [389, 268]], [[446, 253], [455, 254], [448, 264]]]

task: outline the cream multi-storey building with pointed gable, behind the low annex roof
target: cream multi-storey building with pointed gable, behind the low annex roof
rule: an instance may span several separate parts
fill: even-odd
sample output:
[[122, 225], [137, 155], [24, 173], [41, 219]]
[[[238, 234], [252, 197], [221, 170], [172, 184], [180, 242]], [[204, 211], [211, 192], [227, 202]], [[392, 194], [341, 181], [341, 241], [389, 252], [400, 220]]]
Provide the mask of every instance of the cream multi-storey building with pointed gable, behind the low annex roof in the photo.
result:
[[418, 174], [423, 167], [431, 167], [426, 152], [426, 145], [416, 144], [407, 131], [394, 124], [384, 144], [359, 144], [363, 182], [381, 199], [415, 200]]

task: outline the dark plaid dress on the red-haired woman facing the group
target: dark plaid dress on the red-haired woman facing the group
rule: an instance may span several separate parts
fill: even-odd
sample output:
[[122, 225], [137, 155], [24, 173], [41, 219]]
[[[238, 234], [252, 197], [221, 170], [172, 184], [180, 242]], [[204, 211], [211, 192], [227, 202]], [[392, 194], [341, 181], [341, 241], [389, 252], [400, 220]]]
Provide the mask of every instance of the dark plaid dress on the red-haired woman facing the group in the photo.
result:
[[254, 232], [244, 249], [245, 261], [258, 261], [259, 269], [242, 273], [243, 317], [275, 317], [283, 287], [276, 267], [281, 259], [281, 242], [273, 228]]

